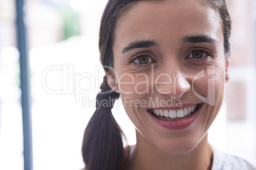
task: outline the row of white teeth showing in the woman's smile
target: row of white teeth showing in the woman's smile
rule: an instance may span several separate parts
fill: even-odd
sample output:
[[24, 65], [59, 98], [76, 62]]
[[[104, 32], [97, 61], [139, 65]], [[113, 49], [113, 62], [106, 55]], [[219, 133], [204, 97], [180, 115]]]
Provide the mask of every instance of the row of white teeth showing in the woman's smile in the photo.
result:
[[[161, 109], [153, 109], [153, 114], [159, 116], [159, 119], [163, 120], [171, 120], [176, 117], [184, 117], [188, 114], [194, 112], [197, 108], [197, 105], [193, 105], [190, 107], [185, 107], [179, 110], [161, 110]], [[162, 117], [162, 118], [161, 118]]]

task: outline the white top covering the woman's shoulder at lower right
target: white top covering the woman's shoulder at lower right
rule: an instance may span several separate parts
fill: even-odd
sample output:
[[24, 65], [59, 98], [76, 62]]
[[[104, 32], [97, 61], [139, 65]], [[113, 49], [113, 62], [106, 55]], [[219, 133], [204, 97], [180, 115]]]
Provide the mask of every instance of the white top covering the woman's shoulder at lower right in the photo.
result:
[[213, 167], [212, 170], [256, 170], [256, 165], [251, 164], [248, 160], [234, 155], [225, 154], [216, 148], [213, 148]]

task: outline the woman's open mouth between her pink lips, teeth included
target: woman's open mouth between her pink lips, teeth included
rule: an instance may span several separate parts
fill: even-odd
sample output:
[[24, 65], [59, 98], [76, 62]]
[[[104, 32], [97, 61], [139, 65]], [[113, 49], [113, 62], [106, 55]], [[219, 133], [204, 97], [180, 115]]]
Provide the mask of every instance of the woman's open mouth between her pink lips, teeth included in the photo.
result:
[[150, 109], [149, 111], [152, 113], [152, 115], [161, 120], [178, 120], [194, 114], [198, 107], [199, 104], [181, 108], [179, 110]]

